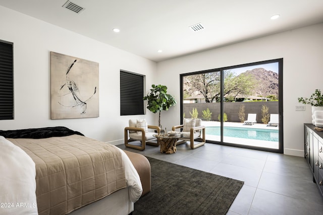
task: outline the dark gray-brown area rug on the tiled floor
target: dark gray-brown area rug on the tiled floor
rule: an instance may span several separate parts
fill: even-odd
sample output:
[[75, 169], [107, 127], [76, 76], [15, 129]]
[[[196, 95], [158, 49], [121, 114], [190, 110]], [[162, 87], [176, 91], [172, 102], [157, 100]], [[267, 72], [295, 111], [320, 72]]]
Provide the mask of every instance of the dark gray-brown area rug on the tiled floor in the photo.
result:
[[244, 182], [147, 157], [151, 191], [132, 214], [226, 214]]

